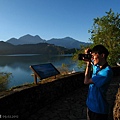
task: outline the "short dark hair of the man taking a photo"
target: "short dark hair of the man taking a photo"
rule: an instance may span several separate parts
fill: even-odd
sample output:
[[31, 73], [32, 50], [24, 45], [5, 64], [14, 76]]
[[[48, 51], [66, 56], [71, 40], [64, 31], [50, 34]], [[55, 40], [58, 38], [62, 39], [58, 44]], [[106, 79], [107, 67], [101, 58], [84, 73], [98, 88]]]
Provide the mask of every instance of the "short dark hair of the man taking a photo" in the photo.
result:
[[92, 53], [105, 54], [105, 58], [109, 55], [108, 50], [103, 45], [96, 45], [92, 49]]

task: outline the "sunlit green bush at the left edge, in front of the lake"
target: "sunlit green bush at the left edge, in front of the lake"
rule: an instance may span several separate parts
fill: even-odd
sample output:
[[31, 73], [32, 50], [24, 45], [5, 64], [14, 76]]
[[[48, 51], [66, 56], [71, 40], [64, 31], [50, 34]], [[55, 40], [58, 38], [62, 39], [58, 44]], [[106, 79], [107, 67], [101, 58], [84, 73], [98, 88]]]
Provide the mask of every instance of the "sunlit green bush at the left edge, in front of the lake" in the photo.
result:
[[9, 79], [11, 77], [12, 73], [0, 73], [0, 91], [6, 90], [7, 83], [9, 82]]

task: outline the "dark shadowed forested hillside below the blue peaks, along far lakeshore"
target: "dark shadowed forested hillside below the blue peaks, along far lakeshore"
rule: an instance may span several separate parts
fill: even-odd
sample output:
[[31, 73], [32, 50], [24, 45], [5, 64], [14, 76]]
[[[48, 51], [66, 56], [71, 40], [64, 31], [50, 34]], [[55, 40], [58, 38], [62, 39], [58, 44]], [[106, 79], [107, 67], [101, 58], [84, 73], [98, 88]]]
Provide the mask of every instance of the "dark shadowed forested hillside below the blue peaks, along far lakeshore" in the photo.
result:
[[68, 50], [64, 47], [48, 43], [12, 45], [0, 41], [0, 54], [65, 54], [74, 53], [75, 49]]

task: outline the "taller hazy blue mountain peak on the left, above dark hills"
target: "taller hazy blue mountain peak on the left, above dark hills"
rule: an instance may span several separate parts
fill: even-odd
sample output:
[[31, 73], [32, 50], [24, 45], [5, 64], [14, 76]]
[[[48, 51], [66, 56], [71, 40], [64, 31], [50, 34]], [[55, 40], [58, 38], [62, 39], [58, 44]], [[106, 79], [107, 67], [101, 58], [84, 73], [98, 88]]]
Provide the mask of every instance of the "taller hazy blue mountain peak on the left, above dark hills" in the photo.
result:
[[37, 44], [37, 43], [44, 43], [46, 40], [41, 39], [38, 35], [32, 36], [32, 35], [24, 35], [20, 37], [19, 39], [11, 38], [7, 40], [7, 43], [11, 43], [13, 45], [23, 45], [23, 44]]

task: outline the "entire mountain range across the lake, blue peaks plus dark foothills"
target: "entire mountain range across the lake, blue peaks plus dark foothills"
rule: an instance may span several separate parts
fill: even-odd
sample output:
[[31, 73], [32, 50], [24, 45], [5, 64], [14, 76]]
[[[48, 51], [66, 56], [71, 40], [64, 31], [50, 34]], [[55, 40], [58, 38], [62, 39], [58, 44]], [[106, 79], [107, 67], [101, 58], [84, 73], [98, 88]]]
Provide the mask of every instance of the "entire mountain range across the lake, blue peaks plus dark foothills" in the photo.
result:
[[10, 54], [73, 54], [80, 45], [88, 45], [70, 37], [44, 40], [38, 35], [24, 35], [11, 38], [6, 42], [0, 41], [0, 55]]

